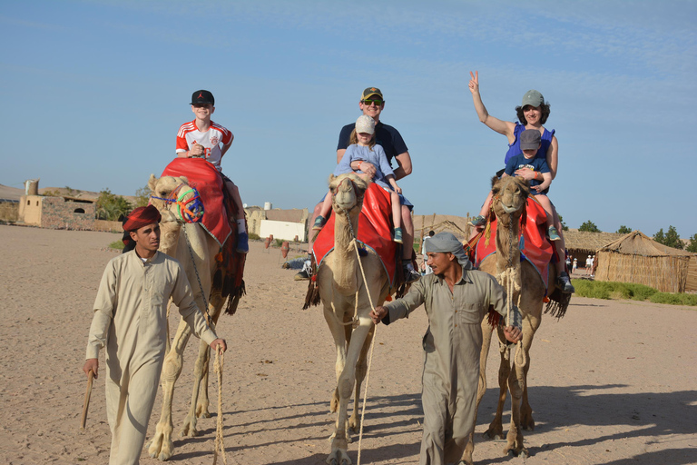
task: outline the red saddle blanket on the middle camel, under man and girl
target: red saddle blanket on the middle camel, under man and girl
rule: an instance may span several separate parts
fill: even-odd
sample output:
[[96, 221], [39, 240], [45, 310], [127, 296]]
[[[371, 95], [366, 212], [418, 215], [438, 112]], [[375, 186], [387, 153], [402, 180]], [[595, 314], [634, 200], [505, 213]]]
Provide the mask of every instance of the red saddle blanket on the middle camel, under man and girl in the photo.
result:
[[[358, 216], [358, 241], [378, 254], [390, 287], [395, 283], [397, 270], [395, 254], [397, 243], [392, 241], [392, 209], [389, 193], [378, 184], [371, 183], [363, 196], [363, 209]], [[325, 256], [334, 250], [334, 214], [317, 235], [312, 252], [319, 266]]]

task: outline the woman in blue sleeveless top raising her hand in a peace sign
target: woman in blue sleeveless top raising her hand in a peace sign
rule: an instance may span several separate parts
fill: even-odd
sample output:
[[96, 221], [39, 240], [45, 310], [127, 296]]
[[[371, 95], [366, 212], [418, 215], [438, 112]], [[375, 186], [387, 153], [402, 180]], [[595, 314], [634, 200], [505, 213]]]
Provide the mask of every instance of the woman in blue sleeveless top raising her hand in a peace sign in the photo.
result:
[[[525, 131], [538, 131], [540, 133], [540, 148], [535, 153], [535, 158], [544, 159], [549, 168], [549, 173], [552, 180], [556, 177], [556, 169], [558, 165], [558, 153], [559, 144], [556, 140], [555, 131], [547, 131], [545, 124], [547, 118], [549, 117], [549, 104], [545, 102], [545, 97], [535, 90], [529, 90], [523, 95], [523, 101], [520, 106], [515, 107], [515, 113], [518, 117], [518, 122], [513, 123], [510, 121], [502, 121], [494, 116], [491, 116], [489, 112], [486, 111], [486, 106], [482, 102], [482, 96], [479, 94], [479, 73], [472, 73], [470, 71], [471, 79], [469, 80], [469, 92], [472, 93], [472, 101], [475, 104], [475, 110], [477, 116], [479, 116], [479, 121], [486, 124], [486, 126], [498, 134], [503, 134], [508, 139], [508, 151], [506, 152], [506, 157], [504, 158], [504, 163], [516, 156], [521, 154], [523, 151], [520, 147], [520, 135]], [[500, 172], [497, 173], [500, 176]], [[516, 176], [521, 176], [528, 181], [544, 182], [544, 176], [542, 173], [531, 170], [530, 168], [521, 168], [515, 170]], [[472, 232], [472, 239], [477, 230], [481, 229], [486, 224], [486, 218], [489, 214], [489, 208], [491, 204], [492, 194], [489, 192], [486, 197], [486, 201], [482, 205], [481, 212], [472, 219], [470, 224], [475, 226]], [[555, 226], [555, 231], [561, 242], [559, 246], [562, 250], [565, 249], [564, 244], [564, 234], [562, 233], [562, 223], [559, 221], [559, 215], [556, 213], [555, 206], [552, 205], [552, 221]], [[550, 238], [552, 239], [552, 238]], [[564, 255], [559, 255], [559, 260], [564, 263]], [[569, 280], [568, 270], [562, 270], [557, 275], [557, 282], [559, 283], [562, 291], [564, 292], [574, 292], [574, 286], [572, 286]]]

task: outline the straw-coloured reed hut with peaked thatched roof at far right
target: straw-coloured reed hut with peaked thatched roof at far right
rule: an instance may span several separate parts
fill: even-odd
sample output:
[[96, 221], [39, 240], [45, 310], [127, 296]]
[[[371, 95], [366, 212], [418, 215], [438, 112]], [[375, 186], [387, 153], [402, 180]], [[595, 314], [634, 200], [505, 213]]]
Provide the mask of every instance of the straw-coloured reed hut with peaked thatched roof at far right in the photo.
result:
[[661, 292], [684, 292], [692, 255], [633, 231], [596, 253], [595, 280], [634, 282]]

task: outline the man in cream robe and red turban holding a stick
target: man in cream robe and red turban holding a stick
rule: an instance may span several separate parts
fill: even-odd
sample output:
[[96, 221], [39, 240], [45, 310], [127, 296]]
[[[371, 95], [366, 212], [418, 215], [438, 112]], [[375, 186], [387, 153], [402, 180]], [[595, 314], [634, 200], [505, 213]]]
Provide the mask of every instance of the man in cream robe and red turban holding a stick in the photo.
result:
[[160, 219], [152, 205], [128, 215], [123, 242], [135, 247], [106, 265], [94, 300], [83, 371], [97, 378], [99, 351], [106, 347], [110, 465], [137, 464], [141, 457], [164, 361], [170, 297], [198, 337], [214, 350], [227, 350], [196, 306], [179, 262], [157, 251]]

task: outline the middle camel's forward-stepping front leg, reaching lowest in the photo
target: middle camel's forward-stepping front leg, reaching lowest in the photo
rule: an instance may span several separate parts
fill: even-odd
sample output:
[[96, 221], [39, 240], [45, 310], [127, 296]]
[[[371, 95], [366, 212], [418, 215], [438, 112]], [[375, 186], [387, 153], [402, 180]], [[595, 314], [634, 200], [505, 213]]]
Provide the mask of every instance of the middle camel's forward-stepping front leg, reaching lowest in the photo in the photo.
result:
[[356, 382], [356, 365], [360, 351], [363, 349], [363, 344], [368, 338], [368, 332], [374, 326], [372, 320], [368, 316], [359, 319], [358, 328], [353, 330], [351, 334], [351, 343], [348, 345], [346, 363], [344, 371], [339, 376], [337, 387], [339, 389], [339, 413], [337, 415], [337, 423], [335, 426], [334, 435], [331, 439], [331, 452], [327, 458], [327, 463], [330, 465], [350, 465], [351, 460], [348, 458], [348, 440], [347, 440], [347, 425], [348, 425], [348, 401], [353, 392]]

